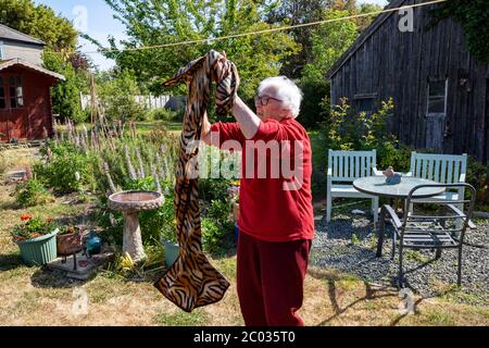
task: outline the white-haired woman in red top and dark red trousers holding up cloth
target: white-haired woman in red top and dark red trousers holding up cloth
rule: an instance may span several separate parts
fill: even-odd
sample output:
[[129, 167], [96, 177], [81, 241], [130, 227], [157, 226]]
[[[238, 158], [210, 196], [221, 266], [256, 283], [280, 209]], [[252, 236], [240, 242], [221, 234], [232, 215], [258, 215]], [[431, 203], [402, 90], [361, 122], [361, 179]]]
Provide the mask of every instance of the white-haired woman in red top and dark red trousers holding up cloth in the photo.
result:
[[[237, 288], [248, 326], [303, 325], [297, 311], [302, 306], [314, 216], [311, 141], [296, 120], [301, 101], [293, 82], [271, 77], [258, 89], [256, 114], [237, 97], [236, 123], [211, 125], [204, 117], [203, 141], [222, 147], [235, 140], [242, 147]], [[284, 163], [290, 162], [293, 177], [284, 173]]]

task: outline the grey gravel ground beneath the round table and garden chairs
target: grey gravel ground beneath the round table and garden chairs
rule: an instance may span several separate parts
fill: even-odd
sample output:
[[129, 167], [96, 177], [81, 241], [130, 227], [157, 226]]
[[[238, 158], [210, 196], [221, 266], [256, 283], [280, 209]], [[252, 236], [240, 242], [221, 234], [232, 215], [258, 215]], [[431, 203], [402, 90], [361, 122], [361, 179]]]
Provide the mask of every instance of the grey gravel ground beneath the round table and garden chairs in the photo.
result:
[[[383, 257], [376, 258], [376, 231], [368, 215], [353, 214], [349, 207], [334, 212], [330, 223], [316, 216], [316, 235], [311, 250], [311, 264], [347, 272], [384, 286], [394, 286], [399, 252], [390, 260], [391, 239], [386, 237]], [[456, 249], [443, 250], [439, 260], [430, 250], [406, 250], [404, 270], [408, 286], [424, 298], [452, 296], [457, 302], [489, 304], [489, 221], [474, 220], [476, 229], [466, 233], [463, 249], [462, 288], [456, 289]], [[387, 226], [388, 233], [392, 232]], [[399, 249], [397, 249], [399, 251]]]

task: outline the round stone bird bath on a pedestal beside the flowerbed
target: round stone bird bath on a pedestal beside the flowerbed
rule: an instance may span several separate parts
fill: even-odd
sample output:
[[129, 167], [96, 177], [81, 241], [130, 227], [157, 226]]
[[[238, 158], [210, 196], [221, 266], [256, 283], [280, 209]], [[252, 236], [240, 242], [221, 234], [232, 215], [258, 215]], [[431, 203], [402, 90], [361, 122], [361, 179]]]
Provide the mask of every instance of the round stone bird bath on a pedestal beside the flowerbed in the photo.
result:
[[164, 203], [164, 197], [154, 191], [123, 191], [109, 197], [108, 206], [124, 216], [123, 253], [128, 253], [134, 261], [146, 258], [142, 248], [139, 213], [154, 210]]

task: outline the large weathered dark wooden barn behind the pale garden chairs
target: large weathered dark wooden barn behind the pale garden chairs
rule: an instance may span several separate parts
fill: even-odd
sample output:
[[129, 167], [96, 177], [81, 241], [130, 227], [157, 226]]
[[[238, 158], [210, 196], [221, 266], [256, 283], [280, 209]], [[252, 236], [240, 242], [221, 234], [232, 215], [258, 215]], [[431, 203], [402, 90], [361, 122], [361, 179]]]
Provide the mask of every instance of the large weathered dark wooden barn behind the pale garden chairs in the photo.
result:
[[[387, 8], [422, 2], [393, 0]], [[430, 26], [435, 7], [413, 9], [412, 32], [400, 29], [406, 13], [380, 14], [327, 73], [331, 104], [346, 97], [368, 113], [391, 97], [389, 128], [402, 142], [487, 162], [489, 64], [471, 55], [460, 24]]]

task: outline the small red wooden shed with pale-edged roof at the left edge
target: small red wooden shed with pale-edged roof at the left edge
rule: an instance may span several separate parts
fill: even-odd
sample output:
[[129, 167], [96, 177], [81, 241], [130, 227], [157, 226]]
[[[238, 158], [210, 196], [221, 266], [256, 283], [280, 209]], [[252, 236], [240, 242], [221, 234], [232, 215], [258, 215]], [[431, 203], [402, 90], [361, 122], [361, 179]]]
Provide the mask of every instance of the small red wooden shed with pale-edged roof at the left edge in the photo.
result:
[[0, 141], [52, 135], [50, 87], [60, 79], [65, 78], [20, 58], [0, 61]]

